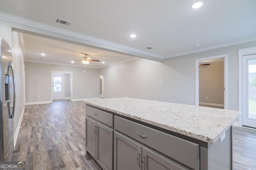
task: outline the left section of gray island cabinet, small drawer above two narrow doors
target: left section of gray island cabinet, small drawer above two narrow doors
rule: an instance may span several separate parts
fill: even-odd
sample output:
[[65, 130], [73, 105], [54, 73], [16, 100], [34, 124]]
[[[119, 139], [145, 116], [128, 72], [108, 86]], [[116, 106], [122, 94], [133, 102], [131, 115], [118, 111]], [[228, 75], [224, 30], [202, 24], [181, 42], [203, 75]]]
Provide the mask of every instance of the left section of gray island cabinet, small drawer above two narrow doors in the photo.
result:
[[[103, 170], [113, 169], [113, 132], [114, 129], [108, 125], [113, 123], [112, 114], [99, 114], [101, 110], [86, 106], [86, 151], [100, 165]], [[91, 117], [95, 116], [95, 117]], [[104, 123], [104, 117], [107, 117], [107, 123]]]

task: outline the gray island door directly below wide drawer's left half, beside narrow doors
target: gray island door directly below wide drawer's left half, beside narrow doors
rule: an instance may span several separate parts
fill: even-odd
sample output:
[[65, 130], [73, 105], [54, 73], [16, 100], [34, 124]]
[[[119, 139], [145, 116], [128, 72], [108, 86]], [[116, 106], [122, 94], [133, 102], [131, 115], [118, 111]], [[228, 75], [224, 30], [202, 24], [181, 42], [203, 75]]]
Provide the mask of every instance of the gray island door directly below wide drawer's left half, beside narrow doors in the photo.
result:
[[114, 170], [142, 170], [142, 146], [114, 131]]

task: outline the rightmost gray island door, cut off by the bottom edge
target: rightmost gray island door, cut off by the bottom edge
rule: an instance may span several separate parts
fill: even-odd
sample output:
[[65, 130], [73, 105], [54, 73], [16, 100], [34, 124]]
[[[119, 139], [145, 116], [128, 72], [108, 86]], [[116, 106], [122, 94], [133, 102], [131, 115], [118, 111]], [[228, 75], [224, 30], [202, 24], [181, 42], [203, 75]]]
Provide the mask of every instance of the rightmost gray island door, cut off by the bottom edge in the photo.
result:
[[188, 168], [145, 147], [142, 148], [142, 153], [143, 170], [188, 170]]

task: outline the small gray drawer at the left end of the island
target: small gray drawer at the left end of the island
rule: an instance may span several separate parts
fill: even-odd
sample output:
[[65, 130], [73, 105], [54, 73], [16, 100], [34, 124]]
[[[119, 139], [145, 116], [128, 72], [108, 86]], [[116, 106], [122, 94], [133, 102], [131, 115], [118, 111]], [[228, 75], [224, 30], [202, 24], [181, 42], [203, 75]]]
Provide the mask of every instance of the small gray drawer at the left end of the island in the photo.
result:
[[114, 127], [114, 123], [113, 123], [114, 115], [111, 113], [86, 105], [85, 114], [87, 116], [93, 117], [98, 121], [101, 121], [102, 123], [110, 127]]

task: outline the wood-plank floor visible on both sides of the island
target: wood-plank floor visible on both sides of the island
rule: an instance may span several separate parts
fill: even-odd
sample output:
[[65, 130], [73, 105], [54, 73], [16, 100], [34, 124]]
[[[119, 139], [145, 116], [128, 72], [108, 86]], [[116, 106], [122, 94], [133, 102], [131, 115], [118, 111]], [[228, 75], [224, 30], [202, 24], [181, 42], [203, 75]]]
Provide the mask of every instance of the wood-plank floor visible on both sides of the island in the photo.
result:
[[[233, 128], [234, 170], [256, 170], [256, 131]], [[13, 161], [26, 170], [100, 170], [85, 150], [85, 103], [25, 106]]]

